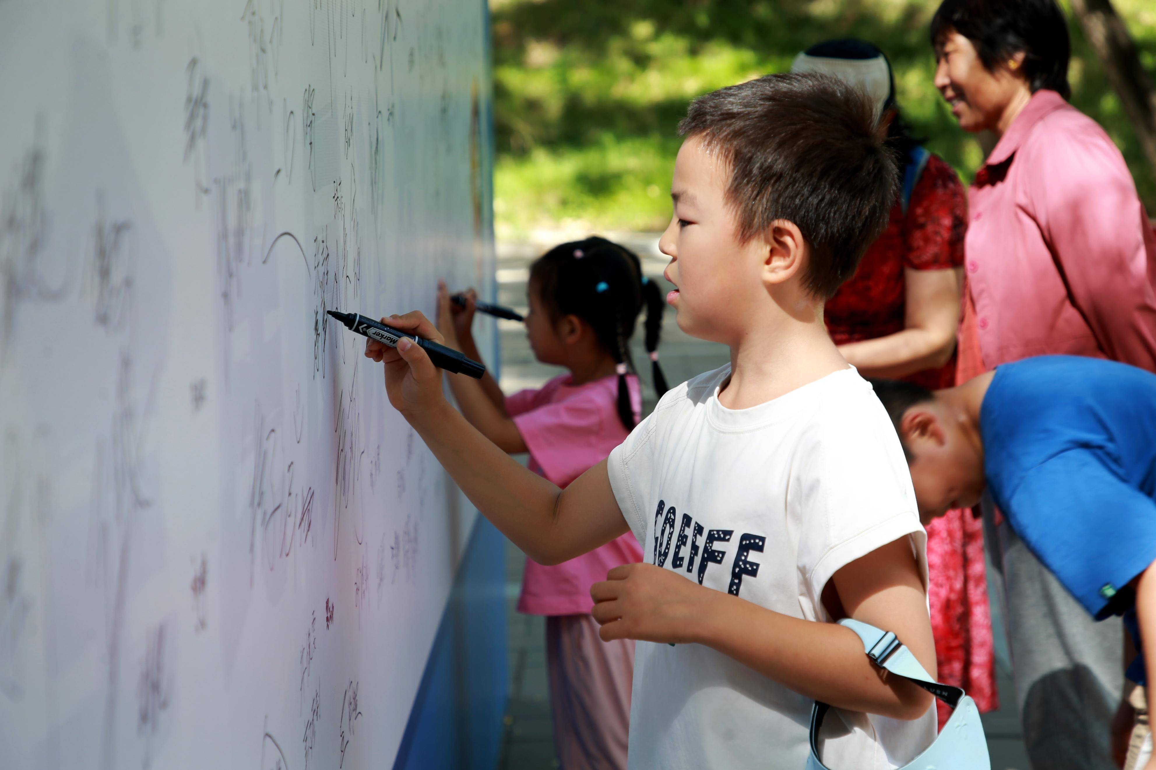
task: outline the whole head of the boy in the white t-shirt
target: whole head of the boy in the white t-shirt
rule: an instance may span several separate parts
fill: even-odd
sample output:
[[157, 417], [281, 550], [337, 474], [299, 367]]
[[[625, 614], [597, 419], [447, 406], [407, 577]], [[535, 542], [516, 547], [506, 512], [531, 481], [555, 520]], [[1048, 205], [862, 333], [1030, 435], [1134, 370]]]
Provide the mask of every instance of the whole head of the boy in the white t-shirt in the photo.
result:
[[729, 342], [770, 296], [815, 313], [887, 227], [896, 162], [870, 99], [828, 75], [768, 75], [695, 99], [670, 188], [672, 304]]

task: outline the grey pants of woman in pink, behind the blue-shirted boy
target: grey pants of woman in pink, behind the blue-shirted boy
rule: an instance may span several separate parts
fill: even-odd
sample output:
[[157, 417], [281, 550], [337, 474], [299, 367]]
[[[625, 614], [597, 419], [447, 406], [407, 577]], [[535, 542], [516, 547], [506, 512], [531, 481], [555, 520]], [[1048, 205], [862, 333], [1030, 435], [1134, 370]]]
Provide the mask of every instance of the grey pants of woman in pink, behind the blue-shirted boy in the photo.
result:
[[1002, 583], [1016, 706], [1036, 770], [1116, 770], [1111, 724], [1124, 691], [1124, 628], [1091, 616], [1007, 521], [984, 534]]

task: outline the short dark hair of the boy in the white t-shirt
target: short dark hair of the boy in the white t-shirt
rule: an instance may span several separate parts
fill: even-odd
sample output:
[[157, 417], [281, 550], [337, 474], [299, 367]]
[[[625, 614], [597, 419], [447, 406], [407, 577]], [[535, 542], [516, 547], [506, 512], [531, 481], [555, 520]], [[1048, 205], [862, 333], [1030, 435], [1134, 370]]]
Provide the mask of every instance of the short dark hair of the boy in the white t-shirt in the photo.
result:
[[887, 227], [898, 195], [870, 99], [817, 73], [766, 75], [690, 103], [679, 124], [720, 150], [743, 243], [788, 220], [810, 247], [803, 284], [830, 299]]

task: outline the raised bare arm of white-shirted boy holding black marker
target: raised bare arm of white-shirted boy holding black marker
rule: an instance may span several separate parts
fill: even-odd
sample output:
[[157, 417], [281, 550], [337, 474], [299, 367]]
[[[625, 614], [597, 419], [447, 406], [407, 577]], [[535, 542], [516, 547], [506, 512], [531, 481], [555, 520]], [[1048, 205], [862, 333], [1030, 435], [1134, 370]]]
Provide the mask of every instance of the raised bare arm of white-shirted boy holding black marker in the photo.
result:
[[[387, 320], [435, 342], [443, 339], [421, 313]], [[573, 558], [627, 531], [605, 460], [560, 490], [487, 440], [445, 400], [440, 371], [421, 347], [402, 340], [394, 349], [370, 340], [365, 355], [385, 363], [390, 403], [477, 510], [535, 562]]]

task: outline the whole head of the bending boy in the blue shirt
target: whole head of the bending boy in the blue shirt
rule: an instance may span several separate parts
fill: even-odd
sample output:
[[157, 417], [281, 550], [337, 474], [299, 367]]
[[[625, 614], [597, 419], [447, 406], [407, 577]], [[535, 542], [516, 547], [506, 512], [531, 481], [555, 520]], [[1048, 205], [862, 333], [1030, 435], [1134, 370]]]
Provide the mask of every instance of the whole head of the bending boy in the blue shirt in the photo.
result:
[[924, 524], [984, 494], [984, 447], [963, 429], [961, 416], [935, 393], [899, 380], [872, 380], [903, 453]]

